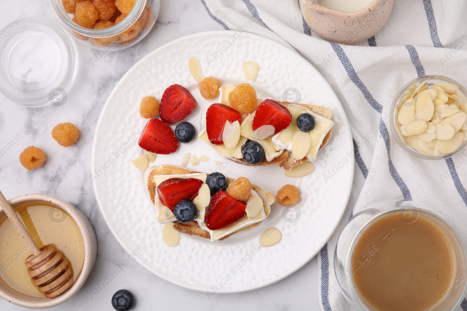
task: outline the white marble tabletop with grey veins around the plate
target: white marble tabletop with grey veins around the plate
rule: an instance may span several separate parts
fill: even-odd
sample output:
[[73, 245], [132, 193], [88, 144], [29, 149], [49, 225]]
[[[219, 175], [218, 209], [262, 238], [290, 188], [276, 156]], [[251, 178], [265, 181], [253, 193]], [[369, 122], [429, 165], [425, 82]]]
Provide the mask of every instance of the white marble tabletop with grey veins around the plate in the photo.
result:
[[[36, 2], [37, 1], [37, 2]], [[50, 0], [1, 1], [0, 28], [21, 12], [29, 17], [42, 17], [61, 23]], [[106, 227], [92, 190], [91, 147], [93, 130], [106, 98], [121, 76], [137, 58], [178, 37], [208, 30], [222, 30], [213, 21], [200, 0], [162, 0], [156, 26], [140, 43], [127, 50], [111, 52], [94, 64], [89, 61], [95, 50], [78, 44], [79, 73], [84, 72], [68, 92], [62, 107], [29, 109], [9, 101], [0, 93], [0, 149], [26, 129], [28, 134], [0, 159], [0, 189], [7, 199], [27, 193], [51, 194], [83, 211], [94, 227], [99, 244], [97, 262], [92, 275], [78, 294], [53, 310], [113, 310], [113, 293], [128, 289], [134, 293], [133, 310], [319, 310], [317, 260], [313, 258], [302, 269], [268, 287], [240, 294], [208, 294], [187, 290], [168, 283], [138, 263], [130, 264], [98, 296], [96, 286], [106, 280], [112, 269], [128, 255]], [[59, 146], [50, 137], [52, 128], [63, 122], [76, 124], [81, 131], [71, 148]], [[19, 162], [19, 154], [29, 145], [41, 147], [47, 164], [29, 172]], [[101, 287], [103, 288], [103, 287]], [[24, 310], [0, 299], [0, 310]]]

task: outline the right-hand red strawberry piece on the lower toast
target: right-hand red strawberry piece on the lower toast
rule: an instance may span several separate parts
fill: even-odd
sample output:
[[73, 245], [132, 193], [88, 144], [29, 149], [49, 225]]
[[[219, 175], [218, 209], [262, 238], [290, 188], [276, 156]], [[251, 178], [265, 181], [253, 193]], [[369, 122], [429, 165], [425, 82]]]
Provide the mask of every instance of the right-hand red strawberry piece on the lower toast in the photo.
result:
[[245, 216], [245, 208], [245, 202], [235, 200], [225, 191], [219, 190], [212, 196], [211, 204], [206, 210], [206, 226], [211, 230], [224, 228]]

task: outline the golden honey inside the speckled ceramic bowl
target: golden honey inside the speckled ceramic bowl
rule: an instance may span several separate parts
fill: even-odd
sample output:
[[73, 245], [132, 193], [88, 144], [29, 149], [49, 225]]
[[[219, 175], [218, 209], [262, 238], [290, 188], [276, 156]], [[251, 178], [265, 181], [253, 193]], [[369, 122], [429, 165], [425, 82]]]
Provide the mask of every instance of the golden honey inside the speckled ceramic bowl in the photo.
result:
[[[40, 204], [40, 205], [39, 205]], [[79, 276], [85, 259], [83, 237], [76, 222], [61, 208], [44, 202], [15, 208], [39, 248], [54, 244], [70, 261], [73, 281]], [[45, 297], [32, 283], [24, 261], [32, 252], [4, 216], [0, 220], [0, 278], [9, 287], [32, 297]]]

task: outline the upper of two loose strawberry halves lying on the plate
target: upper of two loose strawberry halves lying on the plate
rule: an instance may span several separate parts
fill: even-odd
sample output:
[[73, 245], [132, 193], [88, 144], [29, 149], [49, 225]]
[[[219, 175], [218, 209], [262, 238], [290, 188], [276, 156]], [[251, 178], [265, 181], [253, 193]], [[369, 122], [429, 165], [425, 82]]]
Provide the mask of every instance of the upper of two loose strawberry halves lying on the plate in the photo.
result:
[[172, 124], [182, 121], [196, 107], [196, 100], [191, 93], [178, 84], [170, 85], [165, 89], [159, 107], [159, 116], [162, 121]]

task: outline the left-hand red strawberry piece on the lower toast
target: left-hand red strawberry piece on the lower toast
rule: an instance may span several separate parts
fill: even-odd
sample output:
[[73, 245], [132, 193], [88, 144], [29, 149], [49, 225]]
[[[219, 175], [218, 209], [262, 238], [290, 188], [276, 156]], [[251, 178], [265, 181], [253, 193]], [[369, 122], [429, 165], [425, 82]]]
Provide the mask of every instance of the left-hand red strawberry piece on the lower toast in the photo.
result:
[[162, 204], [173, 212], [181, 200], [193, 200], [198, 195], [203, 180], [196, 178], [169, 178], [157, 186], [157, 194]]

